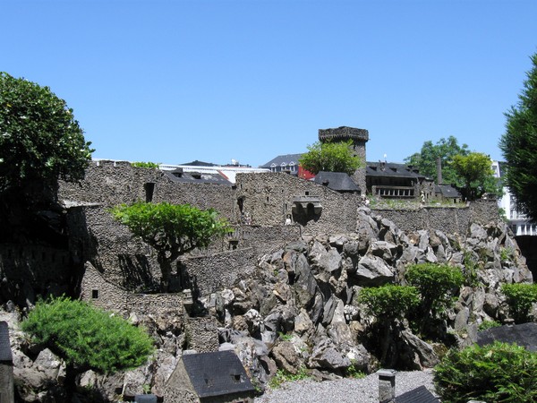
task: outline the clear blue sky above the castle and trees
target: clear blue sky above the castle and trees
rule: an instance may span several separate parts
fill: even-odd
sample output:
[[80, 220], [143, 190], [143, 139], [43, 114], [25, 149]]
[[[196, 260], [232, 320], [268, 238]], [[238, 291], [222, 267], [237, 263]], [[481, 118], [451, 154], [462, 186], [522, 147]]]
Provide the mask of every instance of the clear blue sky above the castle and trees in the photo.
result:
[[94, 158], [257, 167], [346, 125], [373, 161], [449, 135], [501, 159], [537, 1], [3, 0], [0, 33]]

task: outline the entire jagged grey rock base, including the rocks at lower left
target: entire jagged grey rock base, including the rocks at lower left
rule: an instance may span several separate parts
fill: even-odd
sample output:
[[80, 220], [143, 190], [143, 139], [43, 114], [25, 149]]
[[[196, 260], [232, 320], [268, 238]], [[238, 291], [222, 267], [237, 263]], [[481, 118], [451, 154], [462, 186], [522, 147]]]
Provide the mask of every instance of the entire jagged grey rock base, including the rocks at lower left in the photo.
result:
[[[463, 270], [465, 286], [442, 323], [461, 344], [475, 335], [480, 322], [508, 319], [499, 292], [503, 283], [533, 280], [502, 222], [473, 223], [466, 234], [441, 229], [404, 232], [368, 209], [359, 210], [358, 216], [355, 232], [303, 235], [260, 256], [251, 274], [233, 287], [200, 298], [204, 312], [218, 321], [219, 348], [234, 349], [261, 387], [277, 369], [299, 373], [305, 368], [328, 377], [345, 374], [351, 365], [364, 372], [377, 368], [379, 360], [368, 339], [374, 318], [364, 314], [356, 296], [362, 287], [404, 284], [408, 264], [442, 262]], [[99, 390], [103, 399], [132, 396], [147, 388], [161, 394], [183, 348], [188, 348], [188, 338], [196, 337], [185, 331], [183, 313], [155, 317], [133, 309], [128, 314], [152, 332], [158, 353], [132, 372], [109, 377], [84, 373], [81, 385]], [[404, 352], [398, 363], [412, 369], [436, 364], [437, 346], [405, 325], [398, 323], [400, 334], [393, 340]], [[16, 326], [13, 336], [15, 376], [26, 385], [19, 388], [21, 399], [45, 401], [48, 391], [43, 385], [49, 390], [50, 385], [61, 385], [63, 364], [47, 350], [30, 350]]]

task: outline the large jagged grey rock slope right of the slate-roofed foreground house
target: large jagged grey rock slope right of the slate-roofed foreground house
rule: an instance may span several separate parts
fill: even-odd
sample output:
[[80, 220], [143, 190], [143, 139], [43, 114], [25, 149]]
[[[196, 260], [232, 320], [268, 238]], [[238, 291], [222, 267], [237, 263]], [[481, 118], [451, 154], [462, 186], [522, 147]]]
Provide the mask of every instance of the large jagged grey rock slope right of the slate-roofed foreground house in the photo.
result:
[[[267, 346], [268, 356], [258, 360], [288, 373], [305, 367], [341, 374], [350, 365], [371, 371], [378, 365], [364, 347], [371, 318], [355, 297], [362, 287], [404, 283], [405, 267], [411, 263], [442, 262], [463, 270], [465, 287], [442, 325], [459, 343], [480, 322], [507, 319], [501, 284], [532, 281], [502, 222], [472, 224], [467, 234], [439, 229], [405, 233], [369, 210], [360, 214], [355, 233], [303, 236], [261, 256], [253, 277], [220, 292], [226, 296], [226, 327], [241, 331], [241, 339]], [[405, 352], [398, 361], [405, 368], [438, 362], [437, 348], [408, 328], [393, 342]], [[271, 375], [269, 366], [274, 367], [256, 367], [265, 370], [263, 379]]]

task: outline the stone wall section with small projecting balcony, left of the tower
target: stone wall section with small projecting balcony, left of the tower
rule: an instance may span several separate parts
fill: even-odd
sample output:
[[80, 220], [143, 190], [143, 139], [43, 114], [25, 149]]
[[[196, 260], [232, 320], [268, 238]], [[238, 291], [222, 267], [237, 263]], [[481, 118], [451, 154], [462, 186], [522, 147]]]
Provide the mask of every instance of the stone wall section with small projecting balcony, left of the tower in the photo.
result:
[[[356, 209], [361, 199], [355, 193], [337, 193], [285, 173], [238, 174], [236, 185], [241, 213], [251, 219], [252, 225], [281, 226], [290, 216], [310, 234], [337, 234], [356, 228]], [[294, 200], [299, 197], [318, 199], [320, 214], [295, 214]]]

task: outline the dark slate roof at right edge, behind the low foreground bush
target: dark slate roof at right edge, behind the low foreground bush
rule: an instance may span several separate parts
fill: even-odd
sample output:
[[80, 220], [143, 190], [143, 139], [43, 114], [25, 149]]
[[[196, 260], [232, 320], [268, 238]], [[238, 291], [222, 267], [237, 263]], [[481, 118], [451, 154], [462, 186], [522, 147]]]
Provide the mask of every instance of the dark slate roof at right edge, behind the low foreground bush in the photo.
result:
[[477, 344], [485, 346], [494, 341], [516, 343], [530, 351], [537, 351], [537, 323], [529, 322], [512, 326], [499, 326], [477, 333]]

